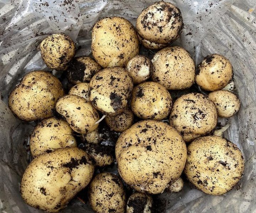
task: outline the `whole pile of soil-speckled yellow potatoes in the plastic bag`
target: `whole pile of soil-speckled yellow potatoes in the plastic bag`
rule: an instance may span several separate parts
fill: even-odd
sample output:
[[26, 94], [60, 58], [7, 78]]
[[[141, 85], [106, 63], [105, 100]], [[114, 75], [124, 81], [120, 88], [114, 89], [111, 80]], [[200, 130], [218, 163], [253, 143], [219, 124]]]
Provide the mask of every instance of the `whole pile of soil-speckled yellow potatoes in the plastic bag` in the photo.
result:
[[[74, 58], [75, 44], [63, 33], [42, 41], [42, 59], [64, 70], [69, 93], [51, 73], [32, 71], [9, 96], [19, 119], [41, 121], [31, 134], [33, 160], [21, 181], [28, 205], [58, 212], [89, 186], [95, 212], [151, 213], [150, 194], [181, 191], [182, 173], [210, 195], [235, 186], [243, 155], [216, 131], [218, 116], [229, 118], [240, 108], [233, 67], [219, 54], [196, 67], [187, 50], [169, 46], [182, 28], [180, 10], [161, 1], [142, 11], [136, 29], [122, 17], [99, 20], [92, 29], [94, 59]], [[139, 42], [161, 50], [150, 60], [138, 55]], [[203, 93], [188, 92], [194, 83]], [[173, 90], [184, 89], [174, 98]], [[121, 133], [115, 153], [104, 143], [105, 124]], [[117, 175], [102, 172], [114, 162]]]

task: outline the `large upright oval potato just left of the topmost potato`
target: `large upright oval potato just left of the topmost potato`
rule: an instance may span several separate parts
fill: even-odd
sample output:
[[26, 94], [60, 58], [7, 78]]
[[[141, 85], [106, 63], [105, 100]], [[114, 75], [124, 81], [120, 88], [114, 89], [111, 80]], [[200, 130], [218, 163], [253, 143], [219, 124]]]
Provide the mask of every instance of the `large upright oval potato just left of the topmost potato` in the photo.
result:
[[128, 20], [122, 17], [106, 17], [92, 29], [92, 55], [102, 67], [125, 67], [139, 54], [137, 33]]

